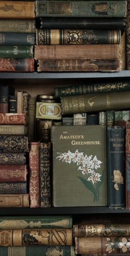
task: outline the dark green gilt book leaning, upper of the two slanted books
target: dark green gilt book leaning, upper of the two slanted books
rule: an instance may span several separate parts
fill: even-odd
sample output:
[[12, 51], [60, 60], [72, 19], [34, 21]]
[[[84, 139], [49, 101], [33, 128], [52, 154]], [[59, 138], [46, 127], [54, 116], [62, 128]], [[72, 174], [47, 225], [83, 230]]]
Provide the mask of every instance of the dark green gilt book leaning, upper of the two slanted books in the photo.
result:
[[110, 92], [123, 92], [130, 90], [129, 81], [118, 81], [110, 83], [86, 83], [74, 84], [74, 86], [63, 86], [54, 88], [54, 95], [56, 98], [62, 96], [82, 95], [88, 93], [110, 93]]

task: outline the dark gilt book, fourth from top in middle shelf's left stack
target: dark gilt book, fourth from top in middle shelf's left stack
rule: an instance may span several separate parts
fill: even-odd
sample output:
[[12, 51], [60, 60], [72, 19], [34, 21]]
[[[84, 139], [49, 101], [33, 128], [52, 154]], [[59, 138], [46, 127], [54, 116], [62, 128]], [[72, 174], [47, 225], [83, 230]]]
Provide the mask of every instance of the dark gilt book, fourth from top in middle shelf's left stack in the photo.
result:
[[26, 155], [25, 153], [0, 153], [0, 165], [1, 164], [25, 164]]

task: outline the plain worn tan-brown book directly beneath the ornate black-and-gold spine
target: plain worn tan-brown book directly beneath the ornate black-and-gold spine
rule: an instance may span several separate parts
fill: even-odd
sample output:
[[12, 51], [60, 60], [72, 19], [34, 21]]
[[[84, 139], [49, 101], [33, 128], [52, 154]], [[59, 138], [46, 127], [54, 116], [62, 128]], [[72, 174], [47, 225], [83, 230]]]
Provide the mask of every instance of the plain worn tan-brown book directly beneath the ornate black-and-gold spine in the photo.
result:
[[72, 45], [35, 45], [34, 55], [35, 60], [71, 60], [75, 58], [96, 58], [98, 60], [111, 60], [114, 58], [118, 59], [118, 50], [119, 47], [117, 44], [73, 45], [73, 47]]

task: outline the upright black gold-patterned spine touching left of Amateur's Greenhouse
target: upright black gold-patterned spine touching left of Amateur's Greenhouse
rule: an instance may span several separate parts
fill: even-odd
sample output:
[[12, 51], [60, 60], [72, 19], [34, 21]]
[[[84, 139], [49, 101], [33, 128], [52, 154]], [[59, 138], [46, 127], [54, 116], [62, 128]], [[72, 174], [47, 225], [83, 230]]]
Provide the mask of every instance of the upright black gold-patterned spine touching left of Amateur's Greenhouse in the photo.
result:
[[40, 143], [41, 207], [51, 206], [51, 142]]

